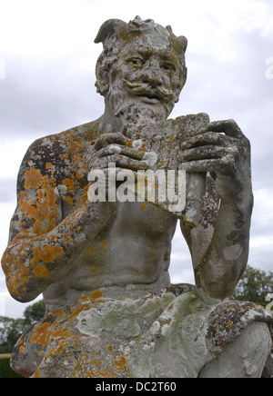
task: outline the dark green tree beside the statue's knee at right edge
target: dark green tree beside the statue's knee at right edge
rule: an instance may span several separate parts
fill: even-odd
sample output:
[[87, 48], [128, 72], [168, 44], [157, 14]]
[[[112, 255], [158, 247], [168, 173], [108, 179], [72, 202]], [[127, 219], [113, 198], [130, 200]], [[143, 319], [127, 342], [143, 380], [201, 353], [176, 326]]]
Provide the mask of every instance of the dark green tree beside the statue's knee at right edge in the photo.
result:
[[268, 305], [267, 296], [273, 293], [273, 272], [264, 272], [248, 266], [233, 295], [235, 300]]

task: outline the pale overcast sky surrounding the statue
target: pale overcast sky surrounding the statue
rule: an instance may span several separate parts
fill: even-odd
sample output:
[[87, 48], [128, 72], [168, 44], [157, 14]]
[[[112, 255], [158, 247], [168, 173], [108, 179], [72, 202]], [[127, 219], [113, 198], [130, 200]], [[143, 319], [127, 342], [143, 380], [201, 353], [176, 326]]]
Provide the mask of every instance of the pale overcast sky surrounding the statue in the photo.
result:
[[[15, 210], [15, 180], [29, 144], [95, 120], [96, 33], [140, 15], [188, 39], [188, 80], [172, 117], [234, 118], [252, 144], [255, 210], [249, 264], [273, 271], [272, 0], [0, 0], [0, 255]], [[186, 243], [173, 244], [173, 282], [193, 282]], [[273, 291], [272, 291], [273, 292]], [[0, 315], [20, 316], [0, 271]]]

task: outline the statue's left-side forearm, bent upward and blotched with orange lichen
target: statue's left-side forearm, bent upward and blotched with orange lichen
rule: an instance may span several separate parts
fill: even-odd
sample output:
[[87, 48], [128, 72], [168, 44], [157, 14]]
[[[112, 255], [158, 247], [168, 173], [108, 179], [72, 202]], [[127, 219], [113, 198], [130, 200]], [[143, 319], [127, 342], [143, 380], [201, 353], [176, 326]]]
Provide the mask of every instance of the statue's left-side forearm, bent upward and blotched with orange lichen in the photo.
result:
[[2, 259], [11, 295], [21, 302], [32, 301], [62, 279], [112, 213], [109, 203], [87, 202], [50, 233], [34, 239], [15, 238]]

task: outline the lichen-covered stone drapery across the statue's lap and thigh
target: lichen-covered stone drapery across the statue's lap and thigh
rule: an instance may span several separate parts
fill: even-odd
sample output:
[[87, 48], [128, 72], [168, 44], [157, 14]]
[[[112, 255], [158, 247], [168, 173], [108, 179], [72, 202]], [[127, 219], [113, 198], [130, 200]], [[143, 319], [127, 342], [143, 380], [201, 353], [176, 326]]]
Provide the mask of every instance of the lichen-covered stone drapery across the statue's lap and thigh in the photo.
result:
[[197, 378], [251, 322], [272, 321], [256, 304], [204, 302], [190, 288], [140, 299], [83, 296], [35, 324], [17, 343], [12, 365], [34, 378]]

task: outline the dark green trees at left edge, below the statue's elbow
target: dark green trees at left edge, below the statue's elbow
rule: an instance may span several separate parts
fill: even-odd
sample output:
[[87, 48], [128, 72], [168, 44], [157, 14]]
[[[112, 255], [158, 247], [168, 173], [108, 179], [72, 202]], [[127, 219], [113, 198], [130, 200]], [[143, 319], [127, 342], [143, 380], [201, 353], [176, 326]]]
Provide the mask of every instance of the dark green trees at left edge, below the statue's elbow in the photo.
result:
[[0, 353], [13, 351], [15, 343], [32, 324], [45, 315], [45, 302], [35, 302], [25, 309], [24, 318], [8, 318], [0, 316]]

